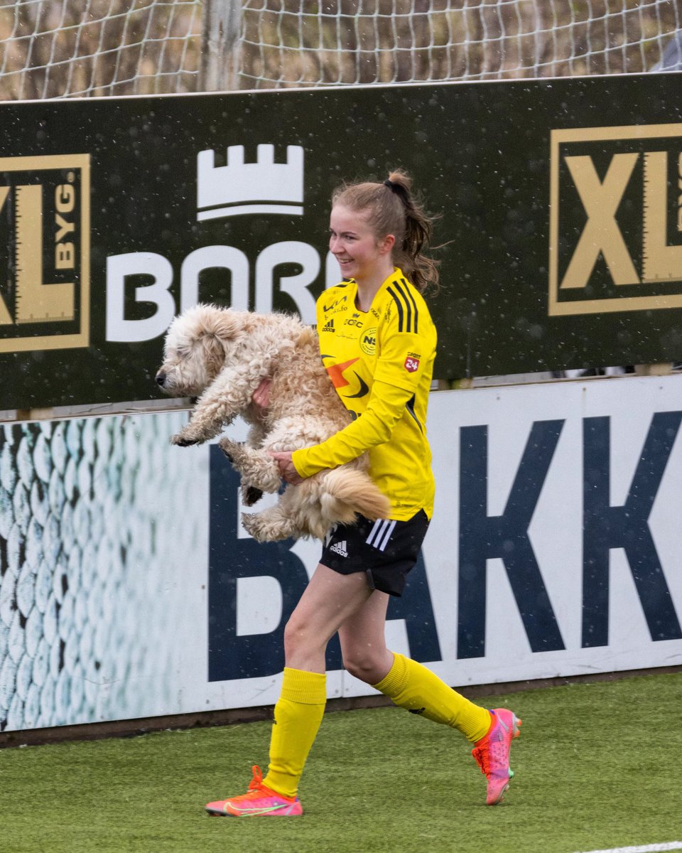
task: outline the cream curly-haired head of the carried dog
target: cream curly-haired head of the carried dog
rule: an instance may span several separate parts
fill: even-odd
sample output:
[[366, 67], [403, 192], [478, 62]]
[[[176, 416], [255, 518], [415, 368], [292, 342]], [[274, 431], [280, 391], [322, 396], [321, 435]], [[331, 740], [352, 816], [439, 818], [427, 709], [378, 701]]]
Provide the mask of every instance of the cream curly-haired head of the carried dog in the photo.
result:
[[170, 323], [156, 382], [174, 397], [198, 397], [220, 373], [228, 351], [246, 334], [246, 312], [194, 305]]

